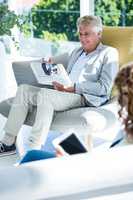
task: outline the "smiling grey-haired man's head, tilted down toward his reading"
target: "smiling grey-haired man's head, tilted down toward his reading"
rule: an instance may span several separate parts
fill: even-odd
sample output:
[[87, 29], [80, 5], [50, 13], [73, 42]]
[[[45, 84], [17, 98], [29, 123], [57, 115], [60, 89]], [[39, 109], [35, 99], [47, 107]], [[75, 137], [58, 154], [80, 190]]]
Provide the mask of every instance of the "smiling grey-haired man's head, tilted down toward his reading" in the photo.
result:
[[102, 36], [102, 20], [100, 17], [86, 15], [78, 18], [77, 30], [79, 40], [86, 52], [95, 50]]

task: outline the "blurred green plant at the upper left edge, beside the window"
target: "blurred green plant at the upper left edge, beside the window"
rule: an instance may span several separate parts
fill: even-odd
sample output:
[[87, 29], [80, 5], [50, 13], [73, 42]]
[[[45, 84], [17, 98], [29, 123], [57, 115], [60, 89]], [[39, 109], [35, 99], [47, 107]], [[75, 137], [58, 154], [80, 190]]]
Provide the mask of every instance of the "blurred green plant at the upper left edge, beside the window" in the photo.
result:
[[16, 14], [8, 9], [8, 5], [0, 3], [0, 35], [11, 35], [11, 29], [16, 23]]

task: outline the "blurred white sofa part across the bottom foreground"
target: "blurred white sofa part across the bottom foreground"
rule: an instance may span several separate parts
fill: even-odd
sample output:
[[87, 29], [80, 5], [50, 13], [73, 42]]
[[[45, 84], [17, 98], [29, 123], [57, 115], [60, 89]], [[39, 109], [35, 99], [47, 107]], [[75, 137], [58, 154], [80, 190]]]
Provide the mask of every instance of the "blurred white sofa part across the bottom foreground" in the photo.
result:
[[1, 199], [20, 199], [22, 194], [31, 200], [132, 195], [132, 155], [130, 145], [1, 168]]

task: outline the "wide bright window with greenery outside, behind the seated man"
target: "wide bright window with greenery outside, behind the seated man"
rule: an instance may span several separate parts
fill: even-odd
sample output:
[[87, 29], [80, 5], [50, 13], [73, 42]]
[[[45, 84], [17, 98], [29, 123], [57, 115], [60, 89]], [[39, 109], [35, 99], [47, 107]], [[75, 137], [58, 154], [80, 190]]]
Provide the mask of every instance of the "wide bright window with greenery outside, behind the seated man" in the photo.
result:
[[[8, 6], [8, 11], [4, 5]], [[131, 0], [0, 0], [0, 9], [4, 11], [0, 15], [0, 35], [10, 35], [22, 55], [33, 56], [31, 51], [36, 48], [35, 55], [42, 56], [39, 52], [44, 42], [47, 49], [51, 45], [48, 55], [72, 50], [79, 41], [76, 20], [84, 13], [93, 14], [91, 8], [106, 26], [133, 24]]]

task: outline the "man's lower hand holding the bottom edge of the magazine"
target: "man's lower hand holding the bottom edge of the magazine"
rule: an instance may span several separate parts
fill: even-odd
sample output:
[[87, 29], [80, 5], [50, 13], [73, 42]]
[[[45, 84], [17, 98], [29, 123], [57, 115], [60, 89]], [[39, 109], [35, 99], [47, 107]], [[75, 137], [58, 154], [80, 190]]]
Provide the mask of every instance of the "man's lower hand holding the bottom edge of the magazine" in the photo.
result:
[[56, 81], [53, 81], [53, 86], [54, 86], [54, 89], [58, 91], [75, 93], [75, 89], [73, 86], [66, 87]]

